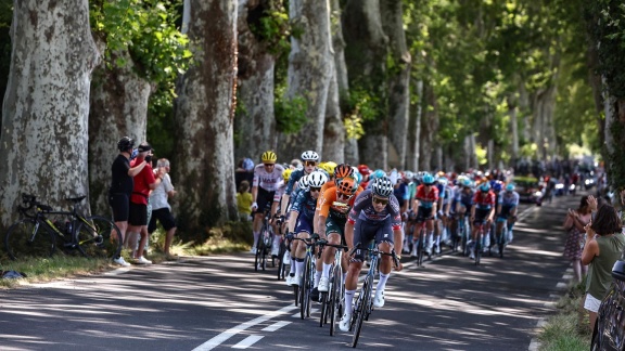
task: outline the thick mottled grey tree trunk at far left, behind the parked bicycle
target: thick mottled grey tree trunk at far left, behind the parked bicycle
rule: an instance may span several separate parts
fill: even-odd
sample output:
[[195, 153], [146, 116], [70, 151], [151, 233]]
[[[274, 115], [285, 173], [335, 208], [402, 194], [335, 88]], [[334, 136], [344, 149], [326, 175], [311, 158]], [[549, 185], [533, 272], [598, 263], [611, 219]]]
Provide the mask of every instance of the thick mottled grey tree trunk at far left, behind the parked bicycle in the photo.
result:
[[[11, 38], [0, 133], [4, 226], [17, 217], [21, 193], [56, 208], [89, 195], [89, 84], [100, 60], [87, 0], [14, 1]], [[89, 212], [88, 204], [82, 209]]]

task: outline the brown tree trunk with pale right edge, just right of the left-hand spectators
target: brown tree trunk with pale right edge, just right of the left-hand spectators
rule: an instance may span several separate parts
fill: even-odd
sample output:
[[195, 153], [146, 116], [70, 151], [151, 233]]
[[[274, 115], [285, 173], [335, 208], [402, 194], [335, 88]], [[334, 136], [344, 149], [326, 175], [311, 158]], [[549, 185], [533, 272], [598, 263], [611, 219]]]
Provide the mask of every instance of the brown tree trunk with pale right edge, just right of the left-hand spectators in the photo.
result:
[[189, 40], [195, 65], [181, 77], [175, 103], [180, 229], [202, 231], [237, 218], [233, 102], [237, 4], [191, 0]]

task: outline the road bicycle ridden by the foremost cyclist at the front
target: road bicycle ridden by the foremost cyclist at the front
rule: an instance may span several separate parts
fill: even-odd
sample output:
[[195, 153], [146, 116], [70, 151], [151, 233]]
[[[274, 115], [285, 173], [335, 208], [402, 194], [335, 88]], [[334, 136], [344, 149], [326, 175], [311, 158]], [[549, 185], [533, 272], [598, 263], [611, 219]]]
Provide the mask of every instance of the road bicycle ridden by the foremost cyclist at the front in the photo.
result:
[[[349, 251], [349, 256], [354, 255], [354, 251], [360, 246], [355, 245], [352, 251]], [[395, 250], [392, 250], [391, 253], [386, 253], [380, 251], [378, 248], [365, 248], [368, 252], [373, 253], [372, 261], [371, 261], [371, 269], [367, 272], [365, 276], [365, 282], [362, 283], [362, 288], [358, 292], [358, 298], [356, 298], [354, 302], [354, 310], [352, 312], [352, 321], [349, 322], [349, 330], [354, 330], [354, 336], [352, 337], [352, 347], [355, 348], [358, 343], [358, 338], [360, 337], [360, 332], [362, 329], [362, 322], [369, 321], [369, 315], [373, 311], [373, 281], [375, 274], [378, 273], [379, 268], [379, 260], [382, 255], [391, 256], [393, 258], [393, 264], [395, 266], [399, 265], [399, 259], [397, 255], [395, 255]]]

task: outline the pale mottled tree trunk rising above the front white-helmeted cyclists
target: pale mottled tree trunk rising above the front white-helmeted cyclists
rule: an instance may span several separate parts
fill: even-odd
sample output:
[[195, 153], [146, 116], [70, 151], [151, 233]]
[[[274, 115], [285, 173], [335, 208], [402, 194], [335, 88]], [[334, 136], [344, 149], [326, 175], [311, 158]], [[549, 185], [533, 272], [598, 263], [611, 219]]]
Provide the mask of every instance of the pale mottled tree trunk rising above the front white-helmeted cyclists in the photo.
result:
[[321, 152], [326, 102], [332, 77], [332, 69], [328, 67], [333, 61], [328, 1], [292, 0], [289, 17], [294, 30], [302, 35], [291, 37], [286, 96], [306, 99], [308, 122], [299, 132], [283, 135], [278, 155], [281, 159], [299, 158], [306, 150]]

